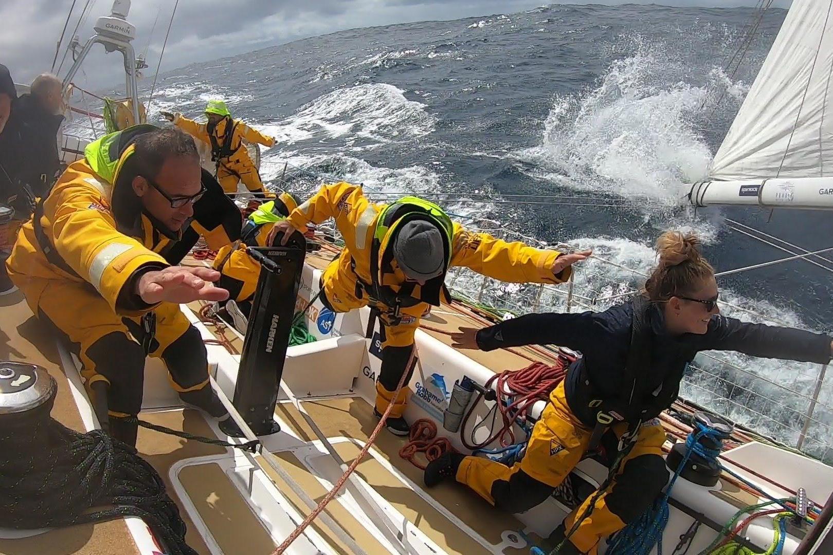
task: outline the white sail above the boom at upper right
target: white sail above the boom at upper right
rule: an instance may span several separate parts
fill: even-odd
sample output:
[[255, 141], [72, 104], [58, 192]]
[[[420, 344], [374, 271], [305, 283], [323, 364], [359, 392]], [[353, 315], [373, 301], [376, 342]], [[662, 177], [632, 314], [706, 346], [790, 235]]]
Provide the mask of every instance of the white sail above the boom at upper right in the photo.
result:
[[833, 176], [831, 27], [833, 0], [793, 0], [711, 179]]

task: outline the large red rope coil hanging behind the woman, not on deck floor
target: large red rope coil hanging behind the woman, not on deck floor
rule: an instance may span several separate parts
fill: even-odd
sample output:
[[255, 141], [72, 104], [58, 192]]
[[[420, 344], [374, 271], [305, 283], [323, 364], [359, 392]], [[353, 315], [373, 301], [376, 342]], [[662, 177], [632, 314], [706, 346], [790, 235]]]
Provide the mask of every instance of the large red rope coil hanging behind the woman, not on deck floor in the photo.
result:
[[515, 444], [515, 430], [513, 429], [515, 420], [526, 419], [536, 401], [549, 399], [551, 391], [556, 389], [556, 386], [564, 379], [573, 360], [575, 359], [572, 356], [561, 353], [558, 355], [556, 364], [536, 362], [520, 370], [506, 370], [492, 376], [486, 382], [486, 389], [492, 388], [496, 391], [496, 409], [501, 414], [503, 425], [501, 429], [493, 432], [491, 437], [480, 443], [471, 444], [466, 439], [466, 424], [483, 397], [483, 393], [478, 393], [460, 426], [462, 444], [471, 450], [484, 448], [495, 440], [500, 440], [502, 447]]

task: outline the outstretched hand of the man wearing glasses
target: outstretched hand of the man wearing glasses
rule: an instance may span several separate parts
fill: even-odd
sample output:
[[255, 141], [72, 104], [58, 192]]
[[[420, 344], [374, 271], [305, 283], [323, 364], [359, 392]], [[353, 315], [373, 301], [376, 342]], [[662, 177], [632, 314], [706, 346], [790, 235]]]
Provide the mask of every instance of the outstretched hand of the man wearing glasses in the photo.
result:
[[211, 268], [171, 266], [142, 274], [137, 293], [148, 305], [190, 303], [192, 300], [226, 300], [228, 291], [213, 285], [220, 272]]

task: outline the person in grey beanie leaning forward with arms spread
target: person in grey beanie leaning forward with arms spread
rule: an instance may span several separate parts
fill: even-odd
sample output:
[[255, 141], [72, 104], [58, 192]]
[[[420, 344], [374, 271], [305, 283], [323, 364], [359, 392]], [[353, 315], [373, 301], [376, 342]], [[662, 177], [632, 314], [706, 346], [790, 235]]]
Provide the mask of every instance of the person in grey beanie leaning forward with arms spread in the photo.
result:
[[292, 211], [287, 220], [272, 228], [270, 237], [292, 230], [306, 230], [335, 218], [345, 241], [342, 255], [327, 266], [322, 276], [322, 303], [334, 312], [371, 305], [382, 320], [382, 369], [377, 382], [375, 411], [378, 416], [393, 404], [387, 429], [407, 435], [402, 418], [407, 387], [394, 398], [408, 367], [414, 334], [421, 315], [431, 305], [449, 302], [445, 286], [448, 270], [466, 266], [498, 280], [517, 283], [561, 283], [570, 277], [574, 262], [589, 250], [561, 254], [523, 243], [506, 243], [485, 233], [475, 233], [452, 222], [439, 206], [407, 196], [390, 205], [367, 201], [362, 188], [350, 183], [324, 185], [311, 199]]

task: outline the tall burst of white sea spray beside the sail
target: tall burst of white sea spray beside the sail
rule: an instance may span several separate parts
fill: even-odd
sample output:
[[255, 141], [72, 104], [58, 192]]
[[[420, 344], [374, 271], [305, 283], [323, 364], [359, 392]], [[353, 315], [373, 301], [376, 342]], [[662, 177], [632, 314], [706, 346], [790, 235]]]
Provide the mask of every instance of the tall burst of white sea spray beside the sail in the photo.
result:
[[685, 183], [706, 176], [712, 153], [694, 119], [715, 89], [746, 91], [719, 70], [708, 86], [671, 82], [661, 45], [637, 41], [595, 90], [555, 97], [540, 146], [516, 153], [526, 171], [559, 186], [677, 202]]

